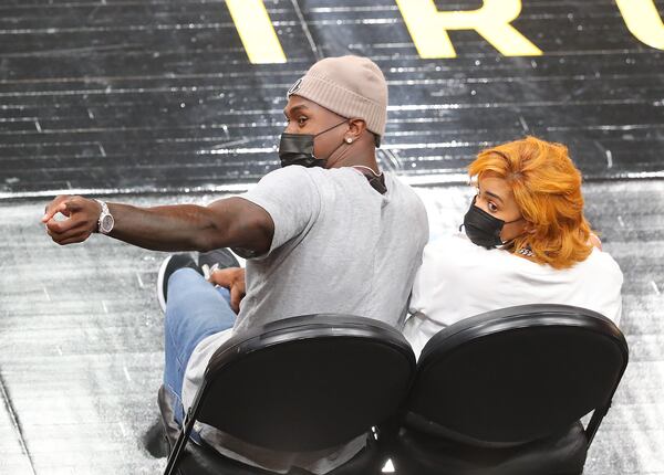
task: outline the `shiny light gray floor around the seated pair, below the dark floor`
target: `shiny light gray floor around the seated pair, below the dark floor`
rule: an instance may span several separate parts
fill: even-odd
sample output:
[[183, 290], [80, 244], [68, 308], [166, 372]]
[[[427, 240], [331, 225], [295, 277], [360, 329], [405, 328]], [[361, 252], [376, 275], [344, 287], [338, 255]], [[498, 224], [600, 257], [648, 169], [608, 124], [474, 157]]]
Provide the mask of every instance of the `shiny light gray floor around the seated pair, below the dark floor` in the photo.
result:
[[[664, 475], [664, 181], [585, 184], [587, 214], [621, 265], [631, 362], [585, 474]], [[419, 188], [432, 234], [458, 225], [470, 189]], [[135, 204], [212, 196], [123, 197]], [[116, 200], [117, 201], [117, 200]], [[163, 253], [95, 235], [60, 247], [44, 201], [0, 201], [0, 474], [155, 474], [142, 437], [163, 369], [155, 299]]]

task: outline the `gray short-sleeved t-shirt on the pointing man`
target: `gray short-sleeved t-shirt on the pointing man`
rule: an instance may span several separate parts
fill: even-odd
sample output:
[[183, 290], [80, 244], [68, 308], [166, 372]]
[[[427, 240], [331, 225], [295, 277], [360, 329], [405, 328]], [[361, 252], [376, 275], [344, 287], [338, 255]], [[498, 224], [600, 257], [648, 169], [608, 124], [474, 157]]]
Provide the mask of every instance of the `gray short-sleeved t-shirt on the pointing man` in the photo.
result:
[[[291, 166], [268, 173], [241, 197], [272, 218], [272, 245], [247, 261], [247, 295], [232, 330], [207, 337], [194, 350], [183, 387], [185, 409], [210, 357], [231, 334], [317, 313], [352, 314], [403, 327], [428, 223], [413, 189], [390, 173], [385, 184], [387, 192], [380, 194], [351, 167]], [[322, 474], [364, 446], [361, 436], [342, 448], [284, 455], [218, 431], [201, 434], [225, 455], [274, 472], [294, 465]]]

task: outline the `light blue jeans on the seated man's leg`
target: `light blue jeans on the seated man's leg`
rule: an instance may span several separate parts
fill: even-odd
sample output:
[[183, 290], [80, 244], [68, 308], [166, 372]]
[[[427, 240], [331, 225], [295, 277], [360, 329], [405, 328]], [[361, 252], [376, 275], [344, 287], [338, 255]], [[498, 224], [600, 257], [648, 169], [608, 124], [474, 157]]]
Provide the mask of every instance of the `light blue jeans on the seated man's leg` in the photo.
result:
[[231, 328], [236, 314], [230, 293], [215, 287], [193, 268], [180, 268], [168, 279], [164, 328], [164, 386], [175, 397], [175, 420], [184, 421], [183, 379], [187, 362], [204, 338]]

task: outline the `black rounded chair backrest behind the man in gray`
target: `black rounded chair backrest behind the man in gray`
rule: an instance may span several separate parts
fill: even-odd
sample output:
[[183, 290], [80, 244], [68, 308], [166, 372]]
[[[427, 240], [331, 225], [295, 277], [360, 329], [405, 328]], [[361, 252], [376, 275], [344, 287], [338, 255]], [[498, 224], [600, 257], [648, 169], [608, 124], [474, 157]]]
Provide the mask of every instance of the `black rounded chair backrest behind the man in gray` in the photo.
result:
[[196, 420], [250, 444], [333, 447], [392, 416], [415, 356], [400, 331], [349, 315], [308, 315], [235, 336], [208, 363]]

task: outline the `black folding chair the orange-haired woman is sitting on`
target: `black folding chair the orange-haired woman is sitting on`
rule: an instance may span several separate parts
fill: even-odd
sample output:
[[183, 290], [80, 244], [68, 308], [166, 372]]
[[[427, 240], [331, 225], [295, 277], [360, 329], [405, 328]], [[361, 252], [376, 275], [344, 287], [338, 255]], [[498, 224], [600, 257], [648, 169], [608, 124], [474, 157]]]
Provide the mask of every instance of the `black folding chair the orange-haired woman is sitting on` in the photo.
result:
[[397, 474], [581, 474], [627, 356], [611, 320], [567, 305], [510, 307], [449, 326], [417, 363], [390, 446]]

